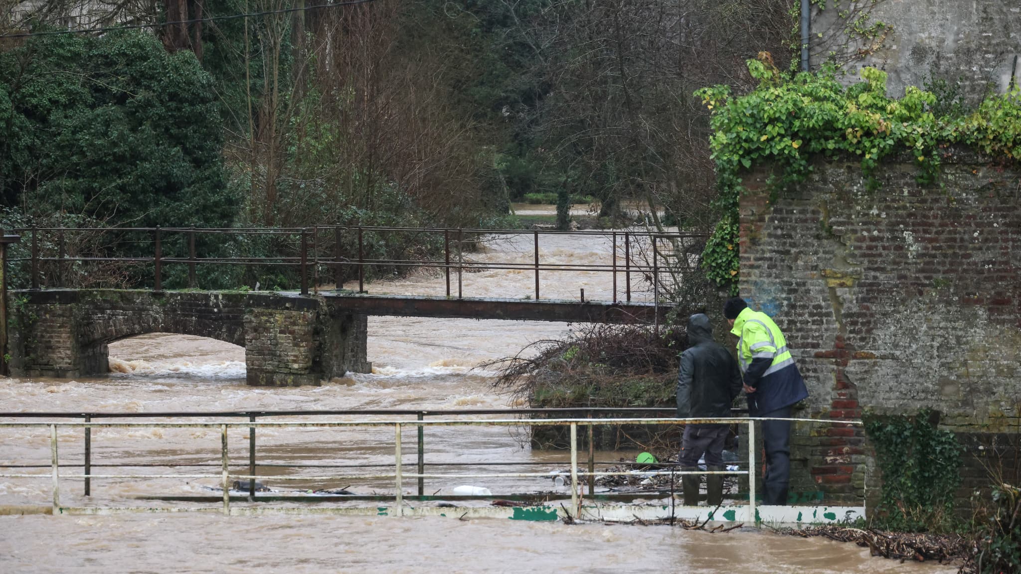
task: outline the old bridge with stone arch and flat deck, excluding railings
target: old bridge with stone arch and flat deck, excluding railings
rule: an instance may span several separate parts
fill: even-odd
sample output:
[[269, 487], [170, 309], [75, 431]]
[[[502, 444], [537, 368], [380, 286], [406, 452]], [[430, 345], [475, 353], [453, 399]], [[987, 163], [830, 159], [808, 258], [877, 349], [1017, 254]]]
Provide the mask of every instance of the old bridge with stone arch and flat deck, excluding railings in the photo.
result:
[[652, 323], [647, 302], [480, 299], [321, 292], [30, 289], [11, 291], [8, 365], [13, 376], [83, 377], [108, 371], [107, 344], [180, 333], [245, 348], [250, 385], [318, 385], [372, 370], [369, 316]]

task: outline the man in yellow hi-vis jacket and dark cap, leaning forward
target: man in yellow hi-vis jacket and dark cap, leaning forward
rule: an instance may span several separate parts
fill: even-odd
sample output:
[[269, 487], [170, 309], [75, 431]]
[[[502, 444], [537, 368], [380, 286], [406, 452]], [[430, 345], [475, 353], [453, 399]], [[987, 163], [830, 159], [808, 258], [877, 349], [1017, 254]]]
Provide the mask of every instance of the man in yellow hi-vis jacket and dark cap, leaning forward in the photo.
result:
[[[780, 328], [740, 297], [727, 300], [723, 316], [738, 337], [737, 363], [752, 417], [789, 419], [791, 406], [809, 396]], [[763, 504], [786, 505], [790, 483], [790, 421], [763, 421], [766, 476]], [[753, 445], [749, 445], [749, 448]]]

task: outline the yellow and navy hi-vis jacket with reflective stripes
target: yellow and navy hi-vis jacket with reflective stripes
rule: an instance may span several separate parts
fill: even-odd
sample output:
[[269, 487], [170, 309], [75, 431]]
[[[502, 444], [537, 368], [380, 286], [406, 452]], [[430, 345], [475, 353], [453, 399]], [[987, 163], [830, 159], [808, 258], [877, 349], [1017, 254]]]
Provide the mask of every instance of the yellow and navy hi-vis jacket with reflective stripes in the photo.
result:
[[765, 313], [745, 308], [734, 320], [731, 331], [738, 337], [737, 358], [741, 373], [756, 358], [770, 358], [772, 363], [756, 385], [752, 398], [760, 414], [789, 406], [809, 396], [809, 391], [797, 371], [794, 357], [787, 349], [787, 340], [776, 323]]

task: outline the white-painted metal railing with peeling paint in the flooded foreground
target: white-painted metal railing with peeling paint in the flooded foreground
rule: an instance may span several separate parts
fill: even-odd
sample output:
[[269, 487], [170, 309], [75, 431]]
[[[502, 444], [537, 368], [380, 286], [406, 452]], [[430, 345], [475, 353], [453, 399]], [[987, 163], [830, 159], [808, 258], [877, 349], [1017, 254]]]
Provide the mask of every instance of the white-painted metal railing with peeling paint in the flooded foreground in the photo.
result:
[[[403, 491], [402, 482], [404, 478], [535, 478], [548, 477], [549, 473], [472, 473], [472, 474], [436, 474], [436, 473], [404, 473], [401, 462], [401, 431], [403, 427], [441, 427], [441, 426], [570, 426], [571, 429], [571, 506], [575, 516], [581, 516], [581, 497], [579, 496], [579, 477], [597, 476], [632, 476], [630, 472], [580, 472], [578, 469], [578, 426], [592, 427], [594, 425], [622, 425], [622, 424], [741, 424], [747, 425], [748, 448], [748, 470], [743, 471], [675, 471], [675, 475], [746, 475], [748, 477], [748, 514], [756, 516], [756, 473], [751, 472], [756, 468], [755, 443], [757, 421], [790, 421], [813, 424], [833, 424], [840, 425], [861, 425], [860, 421], [826, 421], [818, 419], [778, 419], [778, 418], [720, 418], [720, 419], [676, 419], [676, 418], [631, 418], [631, 419], [499, 419], [499, 420], [440, 420], [440, 421], [321, 421], [321, 422], [211, 422], [211, 423], [103, 423], [103, 422], [66, 422], [66, 423], [14, 423], [0, 422], [0, 428], [48, 428], [50, 430], [50, 453], [51, 472], [49, 477], [52, 480], [53, 514], [59, 514], [60, 506], [60, 478], [74, 479], [135, 479], [135, 478], [218, 478], [224, 490], [223, 513], [231, 513], [230, 487], [233, 479], [247, 479], [254, 481], [259, 477], [255, 474], [231, 474], [229, 470], [228, 440], [227, 432], [231, 428], [255, 429], [255, 428], [337, 428], [337, 427], [393, 427], [394, 428], [394, 472], [376, 474], [343, 474], [343, 475], [323, 475], [323, 476], [280, 476], [275, 475], [274, 480], [341, 480], [341, 479], [393, 479], [395, 487], [395, 511], [398, 516], [403, 514]], [[218, 428], [221, 431], [221, 462], [222, 468], [218, 474], [94, 474], [86, 472], [84, 474], [60, 474], [59, 452], [57, 447], [58, 428]], [[485, 463], [480, 463], [485, 466]], [[46, 478], [45, 474], [26, 473], [5, 473], [0, 474], [0, 478]], [[203, 510], [203, 509], [187, 509]]]

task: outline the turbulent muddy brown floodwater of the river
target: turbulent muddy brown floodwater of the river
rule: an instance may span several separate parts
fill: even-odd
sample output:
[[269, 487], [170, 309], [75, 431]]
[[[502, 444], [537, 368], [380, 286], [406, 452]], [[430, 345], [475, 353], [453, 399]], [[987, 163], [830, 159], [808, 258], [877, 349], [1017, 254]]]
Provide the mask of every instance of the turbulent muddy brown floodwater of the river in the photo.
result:
[[[476, 260], [530, 261], [532, 238], [492, 238]], [[604, 264], [611, 240], [598, 237], [544, 236], [543, 261]], [[543, 297], [611, 298], [605, 274], [550, 272], [541, 277]], [[621, 278], [623, 284], [623, 278]], [[639, 280], [635, 278], [636, 291]], [[467, 296], [524, 298], [534, 290], [531, 272], [494, 270], [466, 274]], [[441, 294], [443, 278], [414, 275], [370, 286], [371, 292]], [[639, 296], [639, 295], [636, 295]], [[327, 409], [500, 409], [515, 406], [492, 387], [481, 363], [514, 354], [536, 340], [555, 338], [571, 327], [556, 323], [372, 318], [369, 358], [372, 374], [352, 374], [321, 387], [253, 388], [244, 384], [244, 349], [199, 337], [154, 333], [109, 345], [107, 377], [56, 380], [0, 380], [0, 411], [8, 412], [201, 412]], [[359, 417], [368, 418], [368, 417]], [[466, 418], [483, 419], [486, 416]], [[333, 417], [332, 419], [340, 419]], [[353, 419], [353, 417], [346, 417]], [[6, 420], [6, 419], [5, 419]], [[165, 419], [163, 419], [165, 420]], [[200, 419], [202, 420], [202, 419]], [[207, 420], [216, 420], [210, 418]], [[287, 420], [311, 420], [288, 417]], [[410, 434], [410, 432], [408, 432]], [[414, 436], [414, 435], [412, 435]], [[412, 436], [404, 441], [403, 461], [415, 463]], [[567, 456], [533, 451], [521, 429], [510, 427], [431, 428], [426, 435], [429, 463], [517, 462], [522, 472], [564, 468]], [[245, 472], [247, 431], [231, 432], [230, 455], [236, 472]], [[93, 464], [175, 468], [103, 468], [94, 473], [214, 474], [220, 464], [215, 429], [96, 429]], [[84, 433], [61, 431], [61, 461], [80, 464]], [[392, 492], [385, 481], [275, 480], [343, 474], [351, 468], [295, 469], [289, 464], [386, 465], [393, 460], [391, 429], [259, 429], [258, 460], [268, 486], [282, 493], [348, 487], [356, 493]], [[614, 461], [633, 452], [598, 452]], [[49, 464], [46, 429], [0, 429], [0, 464]], [[373, 468], [373, 467], [370, 467]], [[507, 467], [471, 467], [500, 472]], [[442, 469], [442, 467], [431, 468]], [[447, 467], [436, 472], [452, 472]], [[381, 470], [381, 469], [380, 469]], [[80, 467], [61, 469], [72, 474]], [[43, 478], [0, 479], [0, 505], [47, 505], [48, 468], [20, 469]], [[197, 506], [197, 503], [141, 500], [166, 494], [217, 495], [216, 478], [94, 479], [92, 496], [80, 479], [61, 480], [65, 506]], [[476, 485], [494, 493], [555, 490], [547, 478], [427, 479], [426, 493], [451, 493]], [[405, 492], [412, 493], [414, 485]], [[567, 490], [564, 490], [567, 493]], [[367, 503], [361, 503], [367, 504]], [[478, 503], [483, 504], [483, 503]], [[0, 517], [0, 571], [6, 572], [522, 572], [538, 569], [574, 572], [952, 572], [928, 565], [901, 565], [869, 559], [865, 549], [824, 541], [780, 537], [753, 531], [728, 534], [679, 528], [528, 523], [496, 519], [393, 519], [339, 516], [222, 517], [204, 514], [117, 515], [95, 517]]]

